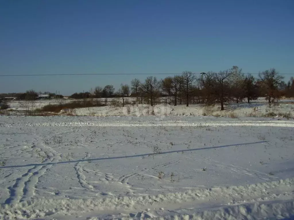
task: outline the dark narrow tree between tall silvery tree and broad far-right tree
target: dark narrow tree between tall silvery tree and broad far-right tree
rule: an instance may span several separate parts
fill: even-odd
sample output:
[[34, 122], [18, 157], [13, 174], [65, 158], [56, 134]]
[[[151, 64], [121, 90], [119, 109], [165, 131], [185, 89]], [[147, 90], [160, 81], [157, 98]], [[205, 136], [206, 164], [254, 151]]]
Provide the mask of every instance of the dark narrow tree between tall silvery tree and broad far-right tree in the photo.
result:
[[250, 103], [251, 100], [256, 100], [259, 96], [258, 84], [255, 82], [253, 75], [248, 74], [244, 79], [244, 92], [247, 102]]

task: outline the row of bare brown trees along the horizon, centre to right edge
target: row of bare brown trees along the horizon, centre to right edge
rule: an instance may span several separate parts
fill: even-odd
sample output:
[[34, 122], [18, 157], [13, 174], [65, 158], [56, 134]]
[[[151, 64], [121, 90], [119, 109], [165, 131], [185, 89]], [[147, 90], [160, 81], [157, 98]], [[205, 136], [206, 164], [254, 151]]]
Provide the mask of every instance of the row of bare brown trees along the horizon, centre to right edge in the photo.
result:
[[[121, 84], [117, 92], [113, 85], [104, 88], [95, 87], [90, 92], [81, 93], [87, 97], [108, 98], [136, 97], [137, 104], [147, 103], [153, 106], [159, 97], [167, 97], [168, 104], [205, 104], [219, 105], [221, 110], [232, 102], [239, 103], [246, 100], [256, 100], [265, 97], [271, 103], [280, 97], [294, 97], [294, 79], [291, 77], [286, 84], [275, 68], [259, 72], [255, 78], [251, 74], [244, 74], [238, 66], [219, 72], [201, 73], [199, 77], [191, 71], [184, 71], [181, 75], [166, 77], [158, 80], [148, 76], [145, 81], [133, 79], [131, 85]], [[74, 94], [73, 94], [74, 95]], [[74, 96], [71, 96], [72, 98]]]

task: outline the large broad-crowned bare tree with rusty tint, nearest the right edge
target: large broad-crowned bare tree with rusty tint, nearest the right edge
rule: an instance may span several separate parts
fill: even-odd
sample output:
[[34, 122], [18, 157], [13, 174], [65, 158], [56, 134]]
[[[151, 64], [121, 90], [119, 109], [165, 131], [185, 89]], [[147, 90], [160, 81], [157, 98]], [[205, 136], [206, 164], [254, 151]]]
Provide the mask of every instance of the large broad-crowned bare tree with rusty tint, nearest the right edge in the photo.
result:
[[275, 68], [259, 72], [258, 76], [262, 85], [262, 90], [263, 92], [265, 92], [268, 103], [271, 103], [271, 101], [273, 101], [272, 99], [279, 98], [280, 94], [278, 91], [278, 87], [284, 77], [281, 76], [275, 70]]

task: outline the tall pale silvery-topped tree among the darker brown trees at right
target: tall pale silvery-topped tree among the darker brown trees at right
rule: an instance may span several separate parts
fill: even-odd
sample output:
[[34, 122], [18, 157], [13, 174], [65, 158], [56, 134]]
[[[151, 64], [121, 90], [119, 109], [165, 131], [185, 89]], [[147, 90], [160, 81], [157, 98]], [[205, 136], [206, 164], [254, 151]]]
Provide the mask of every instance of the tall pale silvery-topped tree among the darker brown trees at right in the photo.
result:
[[236, 100], [236, 103], [242, 101], [245, 98], [244, 91], [244, 73], [242, 69], [238, 66], [233, 66], [230, 69], [231, 72], [231, 86], [232, 86], [232, 95]]

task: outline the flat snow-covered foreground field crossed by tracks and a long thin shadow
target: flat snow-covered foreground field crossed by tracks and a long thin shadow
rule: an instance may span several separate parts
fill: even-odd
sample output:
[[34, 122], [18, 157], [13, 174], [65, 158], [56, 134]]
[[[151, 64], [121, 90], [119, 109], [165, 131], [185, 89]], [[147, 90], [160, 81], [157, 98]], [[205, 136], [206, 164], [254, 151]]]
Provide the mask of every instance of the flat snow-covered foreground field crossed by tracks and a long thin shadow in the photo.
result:
[[292, 219], [294, 120], [0, 116], [0, 219]]

